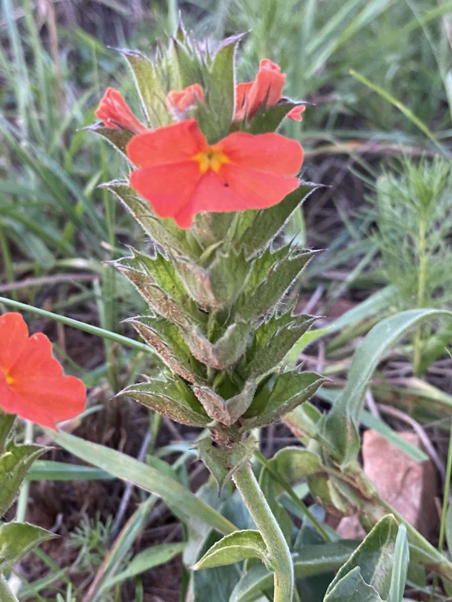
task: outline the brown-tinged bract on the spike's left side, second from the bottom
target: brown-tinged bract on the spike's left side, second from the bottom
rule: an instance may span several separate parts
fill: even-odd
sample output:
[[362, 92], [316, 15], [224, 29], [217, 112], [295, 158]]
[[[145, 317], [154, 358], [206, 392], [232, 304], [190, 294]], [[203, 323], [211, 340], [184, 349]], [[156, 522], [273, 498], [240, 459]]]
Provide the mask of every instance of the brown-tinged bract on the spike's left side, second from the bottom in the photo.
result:
[[166, 318], [143, 315], [125, 320], [165, 361], [169, 368], [189, 382], [204, 382], [205, 367], [193, 358], [177, 324]]

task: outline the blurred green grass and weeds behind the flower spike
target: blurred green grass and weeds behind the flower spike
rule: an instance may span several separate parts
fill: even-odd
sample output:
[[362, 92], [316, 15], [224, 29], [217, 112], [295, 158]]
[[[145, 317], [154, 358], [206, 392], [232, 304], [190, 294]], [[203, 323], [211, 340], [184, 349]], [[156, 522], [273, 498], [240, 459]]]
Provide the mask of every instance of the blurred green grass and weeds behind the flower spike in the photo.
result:
[[[127, 67], [108, 47], [151, 52], [174, 29], [178, 11], [211, 46], [248, 31], [241, 79], [271, 58], [287, 73], [287, 96], [314, 105], [301, 126], [286, 123], [284, 133], [306, 149], [305, 178], [327, 187], [309, 197], [285, 235], [324, 249], [292, 294], [300, 311], [326, 317], [292, 361], [301, 353], [341, 386], [354, 349], [377, 321], [398, 309], [450, 308], [452, 2], [2, 0], [0, 296], [133, 336], [121, 320], [139, 313], [142, 300], [105, 262], [127, 255], [128, 243], [148, 250], [149, 241], [97, 188], [126, 166], [84, 128], [107, 85], [139, 112]], [[8, 307], [0, 302], [0, 309]], [[90, 387], [86, 414], [68, 430], [148, 462], [193, 491], [206, 482], [192, 464], [195, 429], [110, 400], [137, 373], [157, 370], [153, 355], [45, 315], [28, 313], [27, 320], [56, 341], [66, 371]], [[380, 429], [389, 425], [394, 439], [407, 421], [421, 424], [443, 474], [451, 338], [444, 326], [418, 327], [385, 356], [372, 385]], [[331, 400], [331, 389], [322, 391], [319, 408]], [[397, 417], [385, 414], [381, 426], [378, 403]], [[45, 440], [30, 427], [21, 436]], [[295, 442], [283, 425], [260, 436], [268, 457]], [[80, 467], [67, 452], [37, 462], [30, 481], [10, 518], [26, 516], [64, 539], [16, 567], [11, 579], [31, 582], [17, 586], [20, 600], [179, 600], [186, 526], [165, 504], [101, 468]], [[418, 583], [416, 592], [429, 586]]]

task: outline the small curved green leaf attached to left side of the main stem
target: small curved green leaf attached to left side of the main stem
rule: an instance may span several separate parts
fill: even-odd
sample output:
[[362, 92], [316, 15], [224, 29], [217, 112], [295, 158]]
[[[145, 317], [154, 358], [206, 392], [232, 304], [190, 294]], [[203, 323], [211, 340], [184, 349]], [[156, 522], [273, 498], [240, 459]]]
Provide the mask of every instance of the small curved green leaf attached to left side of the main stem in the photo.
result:
[[206, 554], [193, 566], [193, 571], [214, 566], [227, 566], [248, 558], [259, 558], [266, 563], [270, 560], [267, 547], [259, 531], [247, 529], [226, 535], [207, 550]]

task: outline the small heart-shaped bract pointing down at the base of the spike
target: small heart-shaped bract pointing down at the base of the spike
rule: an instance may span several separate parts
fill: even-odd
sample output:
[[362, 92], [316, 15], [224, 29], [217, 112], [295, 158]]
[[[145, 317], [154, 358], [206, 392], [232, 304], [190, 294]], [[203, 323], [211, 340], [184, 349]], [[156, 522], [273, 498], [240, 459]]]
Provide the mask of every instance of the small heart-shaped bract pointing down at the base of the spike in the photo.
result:
[[210, 437], [204, 437], [196, 442], [199, 458], [209, 468], [221, 491], [224, 484], [246, 462], [250, 461], [256, 449], [257, 441], [249, 436], [245, 441], [234, 443], [229, 448], [215, 445]]

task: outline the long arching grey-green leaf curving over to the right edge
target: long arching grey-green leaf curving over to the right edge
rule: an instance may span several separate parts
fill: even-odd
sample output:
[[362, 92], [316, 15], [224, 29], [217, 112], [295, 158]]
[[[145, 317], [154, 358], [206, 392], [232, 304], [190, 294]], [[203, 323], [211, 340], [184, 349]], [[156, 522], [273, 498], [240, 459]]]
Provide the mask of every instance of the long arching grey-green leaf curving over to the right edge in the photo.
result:
[[333, 409], [322, 419], [321, 433], [334, 456], [347, 467], [356, 459], [360, 442], [357, 432], [369, 380], [381, 357], [411, 328], [433, 318], [452, 318], [439, 309], [409, 309], [382, 320], [366, 335], [354, 352], [347, 385]]

